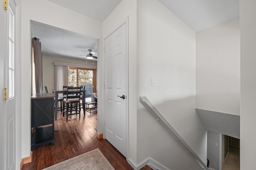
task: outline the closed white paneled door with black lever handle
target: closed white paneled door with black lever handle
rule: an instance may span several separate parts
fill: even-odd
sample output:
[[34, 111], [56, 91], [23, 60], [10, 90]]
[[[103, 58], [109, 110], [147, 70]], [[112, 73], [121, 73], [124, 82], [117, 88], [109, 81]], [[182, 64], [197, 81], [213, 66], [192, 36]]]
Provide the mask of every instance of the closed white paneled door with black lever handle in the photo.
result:
[[126, 156], [127, 118], [126, 57], [126, 23], [124, 23], [105, 39], [106, 139], [124, 156]]

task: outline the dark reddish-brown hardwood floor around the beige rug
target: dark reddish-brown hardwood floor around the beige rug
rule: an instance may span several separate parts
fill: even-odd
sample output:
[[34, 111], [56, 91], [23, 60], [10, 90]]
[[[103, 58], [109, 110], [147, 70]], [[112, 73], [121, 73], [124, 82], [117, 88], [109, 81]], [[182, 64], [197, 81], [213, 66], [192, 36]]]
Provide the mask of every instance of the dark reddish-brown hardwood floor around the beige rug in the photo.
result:
[[[22, 170], [41, 170], [96, 148], [100, 149], [115, 170], [133, 170], [126, 158], [107, 140], [96, 137], [97, 113], [90, 115], [86, 112], [85, 116], [81, 114], [80, 119], [79, 115], [71, 115], [66, 121], [66, 115], [62, 117], [58, 111], [57, 119], [54, 122], [55, 146], [50, 143], [34, 147], [32, 162], [24, 164]], [[142, 170], [152, 169], [145, 166]]]

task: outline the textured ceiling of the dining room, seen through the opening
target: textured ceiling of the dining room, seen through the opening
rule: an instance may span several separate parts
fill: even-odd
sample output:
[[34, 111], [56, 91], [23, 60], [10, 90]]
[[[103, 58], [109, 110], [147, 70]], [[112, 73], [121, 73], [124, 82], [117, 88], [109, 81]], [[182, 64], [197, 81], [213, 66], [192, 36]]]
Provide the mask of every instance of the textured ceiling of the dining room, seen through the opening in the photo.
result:
[[98, 56], [97, 39], [36, 21], [31, 23], [32, 36], [40, 39], [43, 54], [85, 59], [86, 56], [78, 55], [87, 55], [91, 49]]

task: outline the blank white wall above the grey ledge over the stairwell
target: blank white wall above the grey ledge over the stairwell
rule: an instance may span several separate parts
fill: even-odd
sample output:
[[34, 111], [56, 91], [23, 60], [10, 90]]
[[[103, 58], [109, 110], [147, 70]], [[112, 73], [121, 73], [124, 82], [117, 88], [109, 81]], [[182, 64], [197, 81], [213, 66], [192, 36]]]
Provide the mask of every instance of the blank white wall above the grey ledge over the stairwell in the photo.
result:
[[196, 108], [240, 115], [239, 18], [196, 34]]

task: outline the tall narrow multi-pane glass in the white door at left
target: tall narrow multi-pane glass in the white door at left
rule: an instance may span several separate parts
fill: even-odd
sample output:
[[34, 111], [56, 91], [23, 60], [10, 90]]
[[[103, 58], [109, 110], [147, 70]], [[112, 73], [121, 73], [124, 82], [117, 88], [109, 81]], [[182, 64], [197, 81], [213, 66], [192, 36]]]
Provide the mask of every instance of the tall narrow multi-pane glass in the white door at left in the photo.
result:
[[14, 14], [9, 6], [9, 98], [14, 97]]

